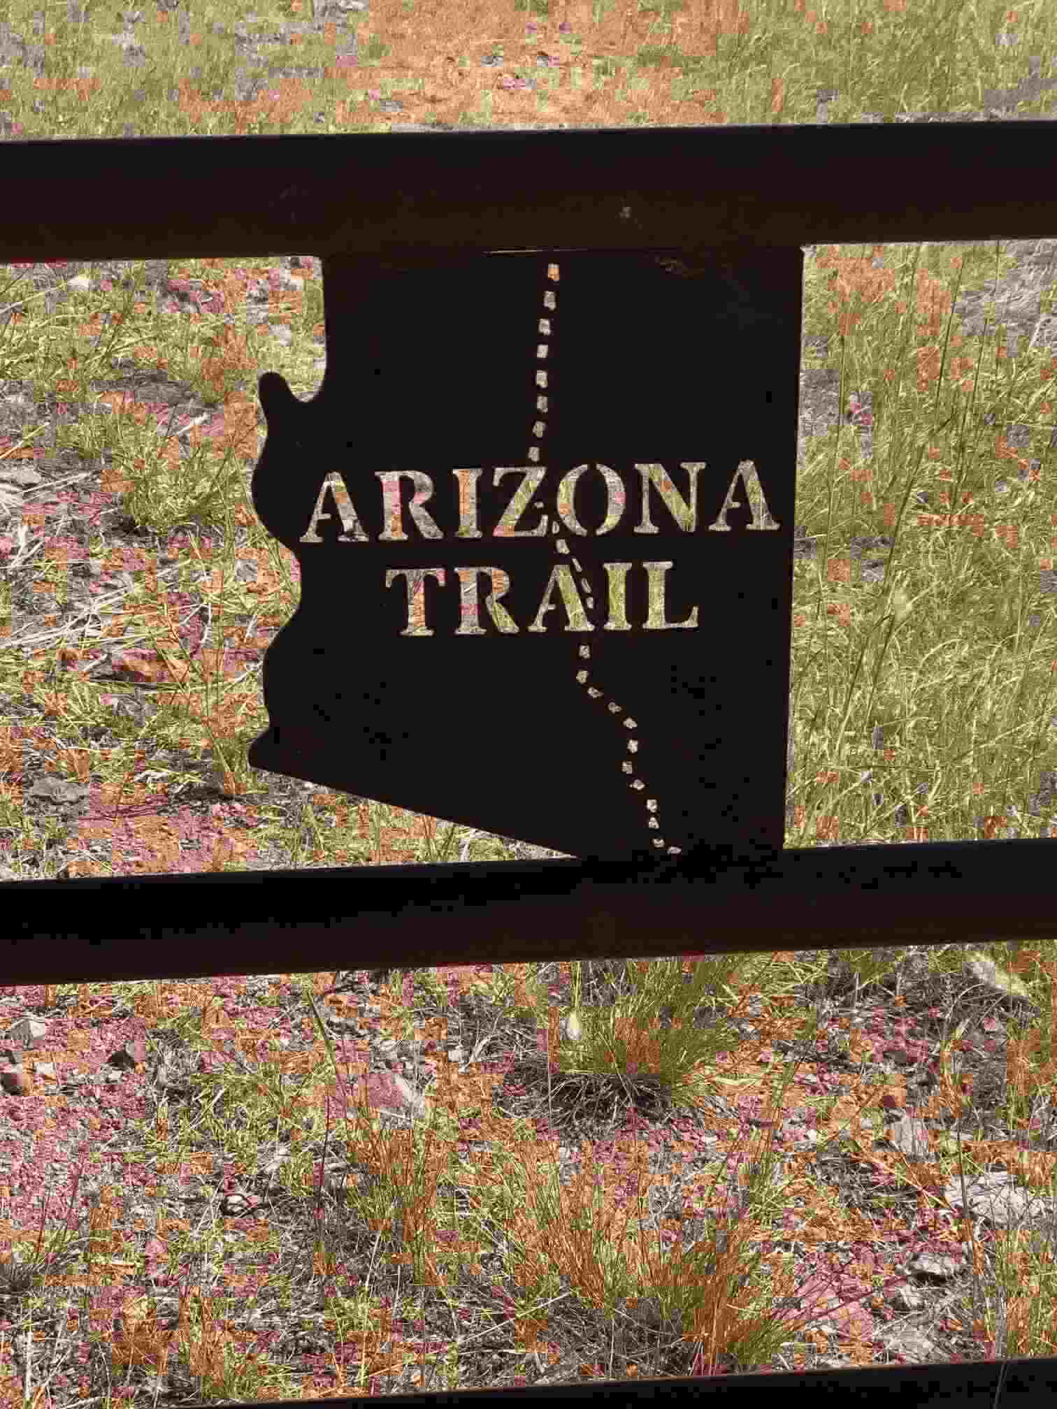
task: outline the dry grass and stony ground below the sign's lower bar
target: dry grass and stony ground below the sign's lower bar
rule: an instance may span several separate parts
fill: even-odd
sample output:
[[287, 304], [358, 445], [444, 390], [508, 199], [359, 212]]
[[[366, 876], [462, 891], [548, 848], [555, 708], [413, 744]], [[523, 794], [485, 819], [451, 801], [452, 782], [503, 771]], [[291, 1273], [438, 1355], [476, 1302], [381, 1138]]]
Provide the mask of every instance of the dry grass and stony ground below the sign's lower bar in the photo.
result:
[[[1039, 998], [1057, 975], [1046, 950], [1003, 955]], [[936, 952], [923, 951], [919, 995], [957, 972], [957, 951]], [[210, 983], [113, 985], [96, 1023], [131, 1009], [147, 1038], [128, 1045], [138, 1060], [113, 1098], [128, 1112], [127, 1185], [94, 1181], [78, 1226], [79, 1167], [66, 1227], [42, 1217], [8, 1254], [3, 1337], [20, 1347], [8, 1399], [209, 1403], [712, 1375], [810, 1368], [837, 1348], [840, 1363], [875, 1364], [888, 1293], [910, 1281], [908, 1240], [968, 1254], [940, 1320], [943, 1358], [1051, 1354], [1050, 1234], [985, 1231], [941, 1195], [951, 1175], [971, 1182], [996, 1161], [1053, 1192], [1040, 1133], [1049, 1005], [1039, 1026], [1009, 1026], [1003, 1141], [982, 1138], [989, 1116], [957, 1057], [970, 1047], [937, 1014], [927, 1109], [947, 1134], [915, 1162], [877, 1138], [885, 1113], [915, 1109], [891, 1054], [912, 1048], [927, 1013], [919, 1005], [906, 1036], [881, 1030], [881, 1062], [877, 1009], [858, 982], [850, 1009], [847, 983], [843, 1002], [836, 981], [819, 988], [822, 968], [789, 954], [481, 965], [397, 974], [376, 995], [362, 975], [280, 976], [252, 995], [252, 981], [227, 981], [223, 1009]], [[76, 1038], [101, 998], [70, 986], [27, 1007]], [[905, 1005], [889, 995], [889, 1016]], [[379, 1089], [390, 1078], [378, 1050], [365, 1060], [335, 1037], [354, 1019], [390, 1041], [414, 1030], [424, 1079], [412, 1085], [428, 1105], [410, 1124], [378, 1109], [400, 1105]], [[38, 1141], [51, 1129], [62, 1151], [90, 1107], [44, 1095], [68, 1089], [44, 1072], [72, 1065], [58, 1043], [47, 1055], [21, 1100]], [[190, 1169], [204, 1188], [189, 1205]], [[871, 1169], [884, 1179], [864, 1203]], [[61, 1203], [45, 1191], [48, 1208]]]

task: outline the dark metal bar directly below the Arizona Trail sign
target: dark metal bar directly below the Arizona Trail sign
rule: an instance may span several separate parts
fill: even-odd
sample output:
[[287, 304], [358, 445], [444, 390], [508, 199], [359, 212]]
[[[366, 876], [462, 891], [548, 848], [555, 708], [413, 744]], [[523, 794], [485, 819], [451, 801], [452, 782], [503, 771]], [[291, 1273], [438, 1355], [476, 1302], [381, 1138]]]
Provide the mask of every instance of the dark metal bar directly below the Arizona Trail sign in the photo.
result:
[[[1053, 938], [1050, 841], [0, 885], [6, 983]], [[689, 875], [691, 865], [698, 874]]]

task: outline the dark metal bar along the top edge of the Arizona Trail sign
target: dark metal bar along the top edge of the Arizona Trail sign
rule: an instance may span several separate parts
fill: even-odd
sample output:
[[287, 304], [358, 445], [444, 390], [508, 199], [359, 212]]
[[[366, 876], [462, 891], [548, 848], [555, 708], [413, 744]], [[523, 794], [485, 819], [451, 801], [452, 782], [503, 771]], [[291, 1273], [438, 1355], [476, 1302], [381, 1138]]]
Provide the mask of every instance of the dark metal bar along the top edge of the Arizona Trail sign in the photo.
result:
[[0, 262], [1037, 238], [1057, 121], [4, 141]]

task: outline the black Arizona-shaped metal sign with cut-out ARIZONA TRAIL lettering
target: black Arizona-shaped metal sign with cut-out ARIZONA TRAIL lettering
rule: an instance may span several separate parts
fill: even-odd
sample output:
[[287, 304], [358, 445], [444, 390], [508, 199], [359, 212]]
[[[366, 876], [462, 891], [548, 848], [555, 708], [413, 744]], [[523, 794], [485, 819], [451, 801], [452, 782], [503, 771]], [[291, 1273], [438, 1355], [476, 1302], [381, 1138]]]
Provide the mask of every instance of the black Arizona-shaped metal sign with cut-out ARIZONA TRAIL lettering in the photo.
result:
[[261, 379], [302, 600], [249, 762], [576, 857], [781, 847], [801, 262], [326, 261], [319, 395]]

